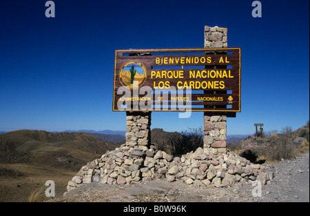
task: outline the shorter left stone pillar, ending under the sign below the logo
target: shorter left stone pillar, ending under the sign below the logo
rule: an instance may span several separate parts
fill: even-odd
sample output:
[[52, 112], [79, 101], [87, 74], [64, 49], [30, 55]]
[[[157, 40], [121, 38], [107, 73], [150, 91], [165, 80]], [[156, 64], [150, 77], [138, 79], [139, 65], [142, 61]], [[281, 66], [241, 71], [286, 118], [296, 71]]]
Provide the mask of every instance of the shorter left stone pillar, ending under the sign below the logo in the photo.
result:
[[145, 152], [151, 144], [151, 113], [152, 112], [126, 112], [126, 143], [129, 148], [140, 149]]

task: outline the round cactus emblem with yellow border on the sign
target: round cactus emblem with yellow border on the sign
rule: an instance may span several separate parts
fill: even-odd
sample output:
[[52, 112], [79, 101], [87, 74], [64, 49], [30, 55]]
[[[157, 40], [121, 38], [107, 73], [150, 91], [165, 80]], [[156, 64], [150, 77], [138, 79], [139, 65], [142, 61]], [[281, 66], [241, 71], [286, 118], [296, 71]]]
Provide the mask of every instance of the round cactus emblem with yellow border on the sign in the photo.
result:
[[139, 61], [129, 61], [119, 71], [119, 81], [128, 88], [139, 88], [147, 79], [147, 70]]

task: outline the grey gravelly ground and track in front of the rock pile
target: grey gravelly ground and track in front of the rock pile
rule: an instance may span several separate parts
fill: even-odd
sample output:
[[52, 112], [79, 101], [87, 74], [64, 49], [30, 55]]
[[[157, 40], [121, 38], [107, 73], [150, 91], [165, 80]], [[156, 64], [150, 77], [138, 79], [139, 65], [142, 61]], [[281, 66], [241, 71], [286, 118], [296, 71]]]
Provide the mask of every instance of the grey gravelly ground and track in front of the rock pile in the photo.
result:
[[167, 179], [125, 185], [92, 182], [50, 202], [309, 202], [309, 153], [264, 166], [274, 178], [262, 186], [216, 188]]

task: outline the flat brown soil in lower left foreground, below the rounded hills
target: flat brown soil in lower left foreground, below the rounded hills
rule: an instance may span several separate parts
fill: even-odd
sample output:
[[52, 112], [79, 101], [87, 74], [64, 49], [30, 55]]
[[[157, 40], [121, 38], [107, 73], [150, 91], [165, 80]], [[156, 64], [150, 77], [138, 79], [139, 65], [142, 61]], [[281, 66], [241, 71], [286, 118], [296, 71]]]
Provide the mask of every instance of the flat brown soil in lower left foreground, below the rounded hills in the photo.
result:
[[55, 183], [55, 195], [59, 197], [66, 190], [74, 172], [59, 168], [46, 168], [34, 164], [0, 164], [0, 202], [43, 202], [45, 181]]

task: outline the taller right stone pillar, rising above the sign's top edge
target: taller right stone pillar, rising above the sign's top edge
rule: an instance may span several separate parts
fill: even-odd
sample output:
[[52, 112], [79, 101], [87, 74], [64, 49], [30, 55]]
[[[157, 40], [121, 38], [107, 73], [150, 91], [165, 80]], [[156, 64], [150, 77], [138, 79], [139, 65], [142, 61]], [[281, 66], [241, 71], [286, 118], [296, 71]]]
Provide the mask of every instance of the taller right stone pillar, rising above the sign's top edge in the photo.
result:
[[[205, 26], [205, 48], [227, 48], [227, 28]], [[218, 148], [219, 151], [226, 151], [226, 119], [225, 112], [204, 112], [204, 148]]]

